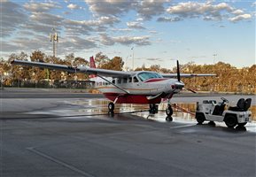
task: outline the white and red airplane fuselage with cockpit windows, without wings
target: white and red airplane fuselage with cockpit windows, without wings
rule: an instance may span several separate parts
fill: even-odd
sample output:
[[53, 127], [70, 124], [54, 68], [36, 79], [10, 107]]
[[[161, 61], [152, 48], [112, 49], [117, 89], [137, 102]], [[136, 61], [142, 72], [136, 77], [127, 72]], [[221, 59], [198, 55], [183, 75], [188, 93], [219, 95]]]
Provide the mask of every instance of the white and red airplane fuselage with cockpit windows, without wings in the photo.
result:
[[119, 104], [159, 104], [161, 98], [178, 93], [184, 86], [182, 81], [152, 72], [136, 72], [132, 77], [107, 80], [109, 82], [97, 81], [96, 89], [112, 101], [118, 96], [116, 103]]

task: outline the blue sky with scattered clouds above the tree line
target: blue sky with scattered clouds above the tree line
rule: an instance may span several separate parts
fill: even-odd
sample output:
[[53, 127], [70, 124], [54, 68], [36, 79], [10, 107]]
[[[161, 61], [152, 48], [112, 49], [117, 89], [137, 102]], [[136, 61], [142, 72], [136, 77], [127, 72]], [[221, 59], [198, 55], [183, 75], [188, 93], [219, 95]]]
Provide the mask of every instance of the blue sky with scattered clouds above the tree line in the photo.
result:
[[0, 58], [41, 50], [57, 56], [119, 56], [130, 68], [219, 61], [256, 63], [253, 0], [0, 0]]

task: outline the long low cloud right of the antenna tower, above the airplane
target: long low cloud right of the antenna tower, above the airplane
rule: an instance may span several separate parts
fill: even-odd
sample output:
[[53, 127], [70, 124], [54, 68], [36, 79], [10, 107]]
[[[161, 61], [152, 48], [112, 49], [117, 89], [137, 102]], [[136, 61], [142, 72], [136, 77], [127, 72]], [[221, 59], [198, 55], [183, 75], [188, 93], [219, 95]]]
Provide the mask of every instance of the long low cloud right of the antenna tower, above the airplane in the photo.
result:
[[113, 45], [114, 43], [120, 43], [122, 45], [150, 45], [150, 36], [116, 36], [110, 37], [106, 34], [101, 34], [101, 42], [105, 45]]

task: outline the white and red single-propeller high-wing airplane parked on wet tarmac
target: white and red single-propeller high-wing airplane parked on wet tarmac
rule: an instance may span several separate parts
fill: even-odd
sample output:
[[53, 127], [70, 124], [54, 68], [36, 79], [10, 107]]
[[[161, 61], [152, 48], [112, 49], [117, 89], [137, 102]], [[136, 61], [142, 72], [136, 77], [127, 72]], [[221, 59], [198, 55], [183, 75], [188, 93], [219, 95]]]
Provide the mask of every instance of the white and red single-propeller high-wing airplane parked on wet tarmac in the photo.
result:
[[[181, 77], [215, 76], [210, 73], [180, 73], [177, 60], [177, 73], [155, 73], [149, 71], [124, 72], [95, 68], [93, 57], [90, 58], [90, 67], [56, 65], [50, 63], [12, 60], [13, 65], [28, 65], [53, 70], [62, 70], [69, 73], [88, 73], [91, 80], [96, 81], [96, 89], [102, 92], [112, 102], [108, 104], [109, 113], [113, 114], [114, 104], [150, 104], [149, 112], [158, 112], [156, 104], [162, 99], [168, 100], [167, 120], [172, 120], [173, 109], [170, 99], [184, 88]], [[97, 78], [99, 80], [97, 80]]]

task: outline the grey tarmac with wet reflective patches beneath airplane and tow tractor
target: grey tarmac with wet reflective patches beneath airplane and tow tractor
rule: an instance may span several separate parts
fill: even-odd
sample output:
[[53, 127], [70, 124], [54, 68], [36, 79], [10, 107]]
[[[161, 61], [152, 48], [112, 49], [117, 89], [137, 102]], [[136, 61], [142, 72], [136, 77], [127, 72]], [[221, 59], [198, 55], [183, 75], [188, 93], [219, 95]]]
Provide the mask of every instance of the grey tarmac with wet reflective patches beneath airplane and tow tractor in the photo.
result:
[[[104, 98], [66, 94], [0, 99], [0, 176], [256, 174], [255, 122], [242, 129], [197, 125], [183, 112], [166, 122], [166, 103], [150, 116], [147, 105], [116, 105], [112, 117]], [[180, 96], [174, 103], [204, 98]]]

